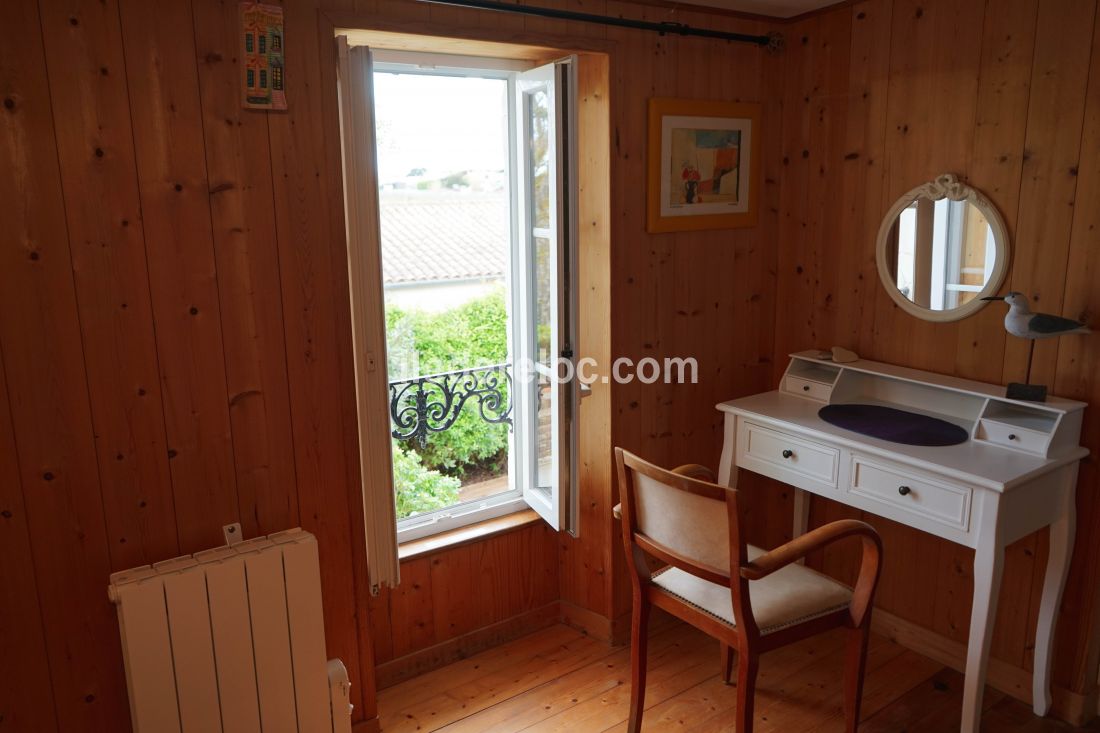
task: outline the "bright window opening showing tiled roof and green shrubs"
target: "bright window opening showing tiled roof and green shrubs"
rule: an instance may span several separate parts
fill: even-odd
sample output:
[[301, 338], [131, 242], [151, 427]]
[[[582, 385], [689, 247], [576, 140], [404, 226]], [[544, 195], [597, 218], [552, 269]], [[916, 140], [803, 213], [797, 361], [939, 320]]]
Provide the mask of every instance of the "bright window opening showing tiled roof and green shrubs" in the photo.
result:
[[494, 78], [378, 70], [374, 95], [406, 519], [510, 490], [510, 109], [508, 83]]

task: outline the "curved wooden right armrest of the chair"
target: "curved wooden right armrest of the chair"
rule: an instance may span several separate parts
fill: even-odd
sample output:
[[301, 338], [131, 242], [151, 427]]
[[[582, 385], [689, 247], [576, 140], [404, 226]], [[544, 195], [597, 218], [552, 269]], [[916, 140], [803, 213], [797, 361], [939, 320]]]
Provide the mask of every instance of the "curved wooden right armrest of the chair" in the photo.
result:
[[864, 545], [864, 557], [859, 567], [859, 577], [856, 579], [856, 587], [853, 589], [850, 605], [853, 623], [859, 626], [864, 623], [871, 606], [875, 588], [879, 582], [879, 570], [882, 566], [882, 539], [875, 527], [866, 522], [840, 519], [817, 527], [741, 566], [741, 577], [746, 580], [767, 578], [816, 549], [849, 537], [859, 537]]

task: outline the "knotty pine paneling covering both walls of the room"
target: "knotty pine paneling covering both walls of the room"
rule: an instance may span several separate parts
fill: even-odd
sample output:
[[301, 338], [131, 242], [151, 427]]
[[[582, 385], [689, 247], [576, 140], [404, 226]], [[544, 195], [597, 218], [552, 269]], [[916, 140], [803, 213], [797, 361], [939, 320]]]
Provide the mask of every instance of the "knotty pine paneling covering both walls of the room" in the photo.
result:
[[[381, 30], [606, 54], [584, 129], [607, 131], [609, 174], [582, 192], [582, 214], [606, 248], [584, 254], [609, 280], [585, 303], [609, 320], [585, 333], [602, 359], [694, 357], [700, 375], [597, 387], [582, 412], [609, 415], [595, 423], [608, 445], [716, 464], [713, 405], [769, 389], [785, 353], [810, 344], [1018, 378], [1024, 354], [993, 308], [933, 327], [879, 288], [881, 212], [942, 171], [970, 177], [1005, 212], [1014, 286], [1047, 310], [1100, 313], [1094, 207], [1071, 206], [1100, 187], [1088, 0], [868, 0], [785, 26], [779, 55], [411, 0], [286, 0], [286, 113], [239, 108], [232, 0], [155, 12], [136, 0], [0, 3], [0, 422], [11, 436], [0, 428], [0, 602], [20, 621], [0, 625], [0, 649], [38, 653], [18, 689], [0, 686], [0, 705], [33, 730], [124, 730], [108, 573], [217, 544], [232, 521], [248, 534], [300, 524], [318, 535], [329, 654], [356, 682], [356, 720], [374, 714], [375, 656], [502, 627], [559, 598], [607, 619], [628, 608], [603, 448], [584, 455], [580, 538], [529, 527], [425, 556], [406, 564], [407, 586], [369, 598], [333, 50], [318, 4]], [[682, 7], [569, 4], [770, 29]], [[658, 95], [763, 105], [757, 228], [645, 232], [644, 120]], [[1096, 349], [1046, 344], [1041, 378], [1100, 403]], [[1085, 435], [1098, 450], [1094, 413]], [[1094, 460], [1080, 485], [1081, 527], [1094, 526]], [[745, 486], [754, 540], [782, 540], [790, 492]], [[815, 522], [834, 515], [815, 505]], [[880, 526], [897, 557], [883, 602], [965, 637], [968, 554]], [[1056, 658], [1056, 679], [1078, 691], [1092, 682], [1100, 576], [1100, 539], [1080, 536]], [[1044, 546], [1023, 540], [1005, 573], [997, 653], [1012, 664], [1028, 664], [1019, 631], [1034, 623]], [[850, 571], [844, 556], [820, 561]]]

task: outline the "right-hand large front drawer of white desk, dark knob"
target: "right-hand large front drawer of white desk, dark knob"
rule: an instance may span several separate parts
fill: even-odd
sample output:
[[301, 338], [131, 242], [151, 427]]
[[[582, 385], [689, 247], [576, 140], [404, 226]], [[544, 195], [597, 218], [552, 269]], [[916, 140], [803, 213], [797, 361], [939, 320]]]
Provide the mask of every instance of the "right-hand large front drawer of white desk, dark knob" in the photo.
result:
[[[923, 477], [906, 468], [882, 466], [855, 456], [848, 492], [889, 504], [914, 519], [964, 532], [970, 525], [970, 489]], [[923, 528], [919, 522], [910, 524]]]

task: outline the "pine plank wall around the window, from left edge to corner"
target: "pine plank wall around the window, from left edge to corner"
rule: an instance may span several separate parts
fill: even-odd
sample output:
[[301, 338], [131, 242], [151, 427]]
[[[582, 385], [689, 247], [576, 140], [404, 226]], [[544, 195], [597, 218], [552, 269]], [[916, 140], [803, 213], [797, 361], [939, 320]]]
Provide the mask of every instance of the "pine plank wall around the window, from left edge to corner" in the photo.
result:
[[[648, 237], [645, 105], [712, 96], [715, 77], [754, 100], [781, 65], [724, 42], [413, 0], [322, 4], [410, 31], [607, 51], [609, 88], [594, 94], [613, 100], [610, 189], [585, 200], [610, 196], [618, 211], [593, 220], [614, 232], [614, 347], [676, 354], [694, 347], [690, 329], [724, 333], [706, 341], [698, 385], [613, 393], [615, 439], [658, 460], [713, 452], [712, 404], [770, 373], [778, 186], [755, 232]], [[290, 109], [263, 113], [240, 109], [232, 0], [0, 3], [0, 654], [28, 660], [0, 681], [0, 715], [15, 730], [125, 730], [109, 572], [217, 545], [234, 521], [249, 536], [318, 535], [329, 654], [358, 682], [356, 719], [374, 711], [375, 639], [386, 659], [551, 597], [625, 609], [608, 455], [584, 471], [581, 539], [529, 528], [411, 561], [410, 578], [431, 579], [431, 627], [397, 594], [369, 619], [334, 64], [318, 3], [284, 6]], [[700, 427], [673, 435], [673, 423]], [[501, 559], [493, 572], [485, 558]], [[471, 605], [471, 589], [493, 589], [493, 608]]]

